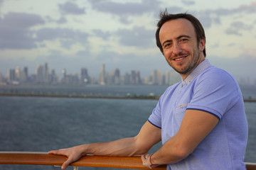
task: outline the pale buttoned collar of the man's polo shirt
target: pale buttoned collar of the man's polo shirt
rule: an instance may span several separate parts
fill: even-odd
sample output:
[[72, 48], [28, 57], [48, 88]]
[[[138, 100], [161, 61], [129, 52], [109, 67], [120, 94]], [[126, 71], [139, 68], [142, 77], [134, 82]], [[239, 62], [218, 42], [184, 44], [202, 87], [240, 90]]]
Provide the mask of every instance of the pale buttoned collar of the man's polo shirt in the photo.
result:
[[210, 62], [207, 59], [203, 60], [203, 62], [201, 62], [198, 67], [196, 67], [196, 69], [194, 69], [193, 72], [191, 72], [191, 74], [186, 77], [185, 80], [182, 80], [181, 86], [183, 86], [183, 84], [190, 84], [195, 77], [197, 77], [199, 74], [201, 74], [201, 72], [203, 72], [203, 70], [210, 66]]

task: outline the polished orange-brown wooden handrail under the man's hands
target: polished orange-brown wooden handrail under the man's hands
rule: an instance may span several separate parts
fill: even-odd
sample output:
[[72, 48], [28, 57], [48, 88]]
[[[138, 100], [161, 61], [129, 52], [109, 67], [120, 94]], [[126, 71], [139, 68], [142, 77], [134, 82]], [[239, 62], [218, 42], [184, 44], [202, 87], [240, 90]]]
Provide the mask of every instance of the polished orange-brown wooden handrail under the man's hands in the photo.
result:
[[[47, 152], [0, 152], [0, 164], [29, 164], [61, 166], [67, 157]], [[245, 162], [247, 170], [256, 170], [256, 163]], [[142, 166], [140, 157], [99, 157], [84, 156], [70, 166], [91, 166], [119, 169], [147, 169]], [[165, 170], [161, 165], [155, 170]]]

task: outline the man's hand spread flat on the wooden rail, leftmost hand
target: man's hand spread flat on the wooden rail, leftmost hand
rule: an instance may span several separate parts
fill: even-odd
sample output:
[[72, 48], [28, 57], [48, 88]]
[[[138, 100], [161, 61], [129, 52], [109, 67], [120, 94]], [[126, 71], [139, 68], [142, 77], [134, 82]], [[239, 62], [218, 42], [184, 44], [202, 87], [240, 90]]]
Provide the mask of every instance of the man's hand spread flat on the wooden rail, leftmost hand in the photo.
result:
[[68, 157], [67, 161], [65, 161], [61, 166], [61, 169], [66, 169], [71, 163], [82, 157], [82, 148], [80, 148], [80, 146], [76, 146], [67, 149], [52, 150], [48, 152], [48, 154], [60, 154]]

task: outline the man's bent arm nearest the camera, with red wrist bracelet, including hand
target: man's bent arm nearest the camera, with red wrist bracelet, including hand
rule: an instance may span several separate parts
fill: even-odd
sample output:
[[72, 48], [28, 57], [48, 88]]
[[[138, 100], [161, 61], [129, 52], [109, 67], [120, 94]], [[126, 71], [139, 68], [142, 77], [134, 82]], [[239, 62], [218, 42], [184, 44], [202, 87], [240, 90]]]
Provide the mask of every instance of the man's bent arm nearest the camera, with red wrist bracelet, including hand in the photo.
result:
[[177, 134], [156, 151], [150, 160], [149, 154], [142, 156], [144, 166], [171, 164], [188, 157], [217, 123], [218, 118], [215, 115], [187, 110]]

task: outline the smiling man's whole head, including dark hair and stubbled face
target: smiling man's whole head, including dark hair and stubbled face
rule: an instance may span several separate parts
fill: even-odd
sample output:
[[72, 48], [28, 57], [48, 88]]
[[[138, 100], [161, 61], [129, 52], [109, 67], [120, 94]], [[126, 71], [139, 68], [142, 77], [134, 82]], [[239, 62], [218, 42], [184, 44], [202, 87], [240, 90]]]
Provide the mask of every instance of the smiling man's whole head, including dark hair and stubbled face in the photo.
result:
[[199, 21], [186, 13], [161, 14], [156, 42], [168, 64], [183, 79], [206, 57], [206, 38]]

